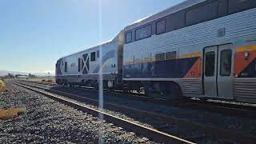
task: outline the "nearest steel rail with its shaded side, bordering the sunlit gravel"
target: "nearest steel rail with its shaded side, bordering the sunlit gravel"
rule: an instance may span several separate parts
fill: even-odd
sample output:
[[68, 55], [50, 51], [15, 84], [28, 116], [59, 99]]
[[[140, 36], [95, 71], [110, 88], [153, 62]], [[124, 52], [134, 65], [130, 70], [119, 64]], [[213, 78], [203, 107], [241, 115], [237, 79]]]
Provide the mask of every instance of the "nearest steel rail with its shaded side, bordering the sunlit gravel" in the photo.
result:
[[61, 98], [61, 97], [57, 96], [56, 94], [50, 94], [46, 91], [38, 90], [38, 88], [32, 88], [32, 86], [24, 86], [24, 84], [22, 85], [17, 82], [13, 82], [13, 83], [18, 86], [22, 86], [28, 90], [33, 90], [34, 92], [37, 92], [38, 94], [43, 94], [48, 98], [54, 99], [55, 101], [62, 102], [64, 104], [66, 104], [67, 106], [71, 106], [78, 110], [82, 110], [83, 112], [92, 114], [92, 115], [94, 115], [94, 117], [98, 117], [99, 114], [102, 114], [104, 117], [104, 120], [106, 120], [107, 122], [112, 122], [116, 126], [122, 126], [126, 130], [132, 130], [133, 132], [135, 132], [137, 134], [142, 134], [142, 135], [146, 136], [147, 138], [154, 140], [155, 142], [164, 142], [164, 143], [174, 142], [174, 143], [194, 144], [194, 142], [187, 141], [183, 138], [178, 138], [174, 135], [166, 134], [164, 132], [154, 130], [154, 129], [146, 127], [146, 126], [142, 126], [137, 123], [130, 122], [123, 118], [118, 118], [112, 114], [107, 114], [106, 112], [102, 112], [100, 110], [93, 109], [89, 106], [84, 106], [82, 104], [79, 104], [78, 102], [73, 102], [73, 101], [70, 101], [69, 99]]

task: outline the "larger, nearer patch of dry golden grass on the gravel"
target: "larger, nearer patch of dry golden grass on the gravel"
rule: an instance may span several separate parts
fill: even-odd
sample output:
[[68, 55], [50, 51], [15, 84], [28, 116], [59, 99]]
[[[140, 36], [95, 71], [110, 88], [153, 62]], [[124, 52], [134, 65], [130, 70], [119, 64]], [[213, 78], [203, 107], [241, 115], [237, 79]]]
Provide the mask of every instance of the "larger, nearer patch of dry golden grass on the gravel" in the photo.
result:
[[26, 109], [24, 108], [10, 108], [7, 110], [0, 109], [0, 119], [6, 120], [10, 118], [17, 117], [19, 114], [25, 113]]

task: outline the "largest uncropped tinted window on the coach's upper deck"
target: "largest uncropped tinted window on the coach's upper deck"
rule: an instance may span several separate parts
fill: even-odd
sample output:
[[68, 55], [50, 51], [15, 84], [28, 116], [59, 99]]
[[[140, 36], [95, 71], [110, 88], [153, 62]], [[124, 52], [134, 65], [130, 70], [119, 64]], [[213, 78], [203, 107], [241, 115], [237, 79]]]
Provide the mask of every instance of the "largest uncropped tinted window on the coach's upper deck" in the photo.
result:
[[186, 26], [206, 22], [218, 17], [218, 1], [198, 6], [186, 12]]

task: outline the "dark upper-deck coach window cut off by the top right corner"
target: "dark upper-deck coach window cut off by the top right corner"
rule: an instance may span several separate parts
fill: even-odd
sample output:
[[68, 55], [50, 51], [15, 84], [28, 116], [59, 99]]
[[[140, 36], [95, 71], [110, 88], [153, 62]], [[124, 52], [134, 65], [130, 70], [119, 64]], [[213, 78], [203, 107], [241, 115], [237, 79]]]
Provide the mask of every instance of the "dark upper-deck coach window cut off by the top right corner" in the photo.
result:
[[249, 10], [256, 7], [255, 0], [232, 0], [229, 1], [229, 14], [237, 13], [242, 10]]

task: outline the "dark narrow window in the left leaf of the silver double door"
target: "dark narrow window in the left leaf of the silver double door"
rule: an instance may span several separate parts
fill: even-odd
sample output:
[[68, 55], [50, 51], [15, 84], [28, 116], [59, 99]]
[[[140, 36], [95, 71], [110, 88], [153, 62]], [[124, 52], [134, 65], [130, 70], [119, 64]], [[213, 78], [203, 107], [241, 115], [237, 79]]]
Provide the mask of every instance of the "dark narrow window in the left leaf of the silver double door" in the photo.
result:
[[205, 63], [205, 75], [206, 77], [214, 76], [215, 71], [215, 53], [210, 51], [206, 53], [206, 63]]

